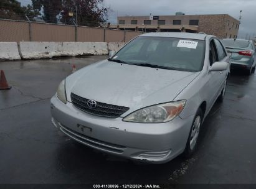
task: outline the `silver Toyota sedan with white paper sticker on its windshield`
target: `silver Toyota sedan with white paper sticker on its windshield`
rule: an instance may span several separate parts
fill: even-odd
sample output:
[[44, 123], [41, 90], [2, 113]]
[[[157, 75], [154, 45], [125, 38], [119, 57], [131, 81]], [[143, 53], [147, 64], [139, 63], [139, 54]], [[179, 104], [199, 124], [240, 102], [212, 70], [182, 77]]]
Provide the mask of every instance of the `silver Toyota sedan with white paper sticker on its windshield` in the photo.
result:
[[151, 33], [63, 80], [52, 123], [77, 142], [154, 164], [190, 157], [202, 122], [222, 101], [229, 57], [217, 37]]

